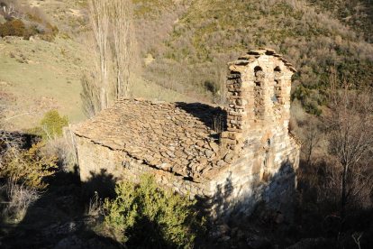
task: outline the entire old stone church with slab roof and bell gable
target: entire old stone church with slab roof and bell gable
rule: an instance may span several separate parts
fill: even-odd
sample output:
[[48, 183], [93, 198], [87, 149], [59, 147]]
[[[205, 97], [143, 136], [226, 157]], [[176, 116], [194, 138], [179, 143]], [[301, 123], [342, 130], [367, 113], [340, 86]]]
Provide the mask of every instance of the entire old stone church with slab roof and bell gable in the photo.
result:
[[260, 49], [229, 70], [227, 107], [123, 98], [77, 124], [84, 189], [103, 192], [109, 181], [150, 173], [159, 186], [196, 198], [212, 219], [250, 215], [260, 201], [286, 214], [300, 149], [288, 131], [296, 69]]

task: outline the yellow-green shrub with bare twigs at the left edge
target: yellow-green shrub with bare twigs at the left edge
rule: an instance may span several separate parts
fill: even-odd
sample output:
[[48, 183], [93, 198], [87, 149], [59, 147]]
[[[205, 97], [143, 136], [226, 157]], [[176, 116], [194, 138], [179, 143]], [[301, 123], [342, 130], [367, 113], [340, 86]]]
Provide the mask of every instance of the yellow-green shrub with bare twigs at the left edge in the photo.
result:
[[44, 143], [27, 146], [25, 134], [0, 131], [0, 219], [22, 218], [48, 186], [43, 178], [56, 168], [56, 156], [42, 155]]

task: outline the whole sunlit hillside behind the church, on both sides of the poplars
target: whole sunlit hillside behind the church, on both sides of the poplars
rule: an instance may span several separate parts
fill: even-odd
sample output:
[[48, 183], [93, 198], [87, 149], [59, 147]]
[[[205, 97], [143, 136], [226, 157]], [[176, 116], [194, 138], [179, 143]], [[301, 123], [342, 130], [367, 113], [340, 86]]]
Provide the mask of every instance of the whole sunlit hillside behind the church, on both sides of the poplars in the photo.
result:
[[[84, 50], [86, 1], [19, 3], [56, 25], [59, 34], [54, 42], [0, 42], [1, 88], [17, 99], [8, 116], [38, 113], [12, 119], [14, 127], [37, 124], [42, 111], [34, 109], [41, 106], [57, 108], [73, 122], [83, 120], [80, 78], [91, 60]], [[371, 86], [368, 0], [133, 3], [142, 68], [132, 78], [133, 96], [223, 103], [226, 63], [260, 46], [283, 53], [296, 66], [293, 97], [310, 113], [327, 102], [332, 72], [339, 83]]]

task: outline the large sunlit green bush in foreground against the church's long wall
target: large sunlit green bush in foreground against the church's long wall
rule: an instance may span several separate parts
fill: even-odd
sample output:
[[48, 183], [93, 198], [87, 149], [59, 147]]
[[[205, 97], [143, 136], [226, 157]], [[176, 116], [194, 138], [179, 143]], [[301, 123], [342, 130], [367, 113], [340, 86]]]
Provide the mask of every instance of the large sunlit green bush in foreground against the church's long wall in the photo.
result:
[[[141, 176], [138, 186], [129, 182], [115, 188], [117, 198], [105, 199], [106, 225], [122, 243], [143, 248], [192, 248], [204, 221], [196, 220], [188, 196], [158, 189], [154, 177]], [[134, 248], [134, 247], [133, 247]]]

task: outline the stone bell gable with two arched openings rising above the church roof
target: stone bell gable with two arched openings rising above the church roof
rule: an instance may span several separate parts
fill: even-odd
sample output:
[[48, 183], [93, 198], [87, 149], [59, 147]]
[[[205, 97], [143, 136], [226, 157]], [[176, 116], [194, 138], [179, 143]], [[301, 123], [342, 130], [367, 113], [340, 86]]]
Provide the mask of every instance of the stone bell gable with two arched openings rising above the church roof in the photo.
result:
[[[268, 180], [276, 153], [288, 144], [291, 77], [296, 69], [271, 49], [249, 51], [229, 63], [226, 149], [254, 157], [253, 173]], [[279, 166], [278, 166], [279, 167]]]

